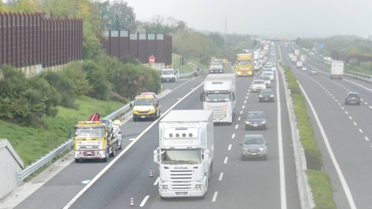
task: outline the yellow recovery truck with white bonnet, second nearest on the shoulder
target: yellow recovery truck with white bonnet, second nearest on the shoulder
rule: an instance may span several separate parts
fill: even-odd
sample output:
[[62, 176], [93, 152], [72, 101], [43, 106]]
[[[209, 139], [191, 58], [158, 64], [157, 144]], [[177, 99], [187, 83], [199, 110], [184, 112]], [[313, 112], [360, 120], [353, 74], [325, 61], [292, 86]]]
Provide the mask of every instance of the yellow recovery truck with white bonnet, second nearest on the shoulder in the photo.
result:
[[155, 101], [153, 95], [138, 95], [134, 103], [129, 104], [133, 107], [133, 120], [138, 121], [144, 118], [150, 118], [155, 121], [160, 117], [159, 103]]

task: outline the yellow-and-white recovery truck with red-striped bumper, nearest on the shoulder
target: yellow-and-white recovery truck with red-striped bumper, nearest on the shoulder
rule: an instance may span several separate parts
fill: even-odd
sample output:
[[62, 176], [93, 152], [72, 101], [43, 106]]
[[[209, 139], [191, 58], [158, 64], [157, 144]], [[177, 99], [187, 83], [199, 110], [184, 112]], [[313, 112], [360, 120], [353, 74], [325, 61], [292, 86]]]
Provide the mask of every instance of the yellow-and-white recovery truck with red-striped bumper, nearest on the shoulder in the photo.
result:
[[103, 159], [107, 162], [109, 157], [115, 157], [119, 141], [118, 135], [112, 134], [112, 131], [102, 121], [79, 121], [74, 134], [75, 162], [80, 159]]

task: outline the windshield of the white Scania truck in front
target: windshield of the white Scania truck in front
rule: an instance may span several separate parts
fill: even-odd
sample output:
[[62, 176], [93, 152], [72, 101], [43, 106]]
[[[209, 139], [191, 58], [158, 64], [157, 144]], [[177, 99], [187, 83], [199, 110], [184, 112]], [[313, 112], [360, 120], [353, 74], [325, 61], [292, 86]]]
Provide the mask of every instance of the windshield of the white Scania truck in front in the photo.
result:
[[167, 150], [161, 154], [162, 164], [200, 164], [201, 150]]

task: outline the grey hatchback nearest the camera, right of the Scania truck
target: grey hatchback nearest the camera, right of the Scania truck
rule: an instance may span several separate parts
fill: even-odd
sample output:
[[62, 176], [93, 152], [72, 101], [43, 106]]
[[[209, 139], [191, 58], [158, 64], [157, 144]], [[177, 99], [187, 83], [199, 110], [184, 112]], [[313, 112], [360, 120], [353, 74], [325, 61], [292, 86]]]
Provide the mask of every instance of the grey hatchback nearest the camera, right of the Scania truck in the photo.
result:
[[267, 147], [262, 134], [246, 134], [241, 145], [241, 160], [253, 157], [262, 157], [267, 160]]

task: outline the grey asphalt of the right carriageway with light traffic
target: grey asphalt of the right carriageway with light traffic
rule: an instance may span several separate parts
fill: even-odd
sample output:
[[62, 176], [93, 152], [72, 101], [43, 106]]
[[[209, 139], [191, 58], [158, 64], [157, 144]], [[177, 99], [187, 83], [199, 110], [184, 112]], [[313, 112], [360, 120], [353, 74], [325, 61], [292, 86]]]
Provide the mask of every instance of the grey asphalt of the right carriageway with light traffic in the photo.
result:
[[[280, 46], [282, 59], [294, 72], [317, 113], [321, 128], [312, 110], [308, 108], [315, 138], [323, 156], [324, 171], [330, 175], [334, 186], [337, 208], [354, 208], [354, 202], [355, 208], [370, 209], [372, 84], [347, 76], [343, 79], [330, 79], [329, 71], [309, 60], [305, 65], [308, 71], [296, 69], [288, 59], [289, 48]], [[318, 75], [310, 75], [312, 68], [318, 70]], [[362, 98], [360, 106], [344, 105], [347, 91], [359, 92]], [[321, 129], [324, 130], [323, 134]], [[330, 145], [328, 148], [326, 141]]]

